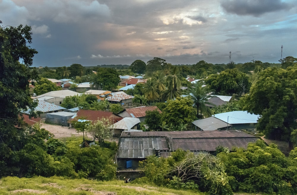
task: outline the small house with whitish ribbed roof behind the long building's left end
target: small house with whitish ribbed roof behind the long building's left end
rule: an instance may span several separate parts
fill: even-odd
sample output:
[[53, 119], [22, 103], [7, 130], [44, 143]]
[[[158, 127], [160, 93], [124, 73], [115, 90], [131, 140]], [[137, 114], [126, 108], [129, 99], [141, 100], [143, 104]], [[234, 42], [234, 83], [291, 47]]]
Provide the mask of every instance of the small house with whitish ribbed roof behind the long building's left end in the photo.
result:
[[122, 131], [129, 130], [137, 130], [140, 124], [140, 120], [138, 118], [124, 117], [119, 122], [116, 122], [112, 125], [114, 129], [114, 136], [119, 137]]

